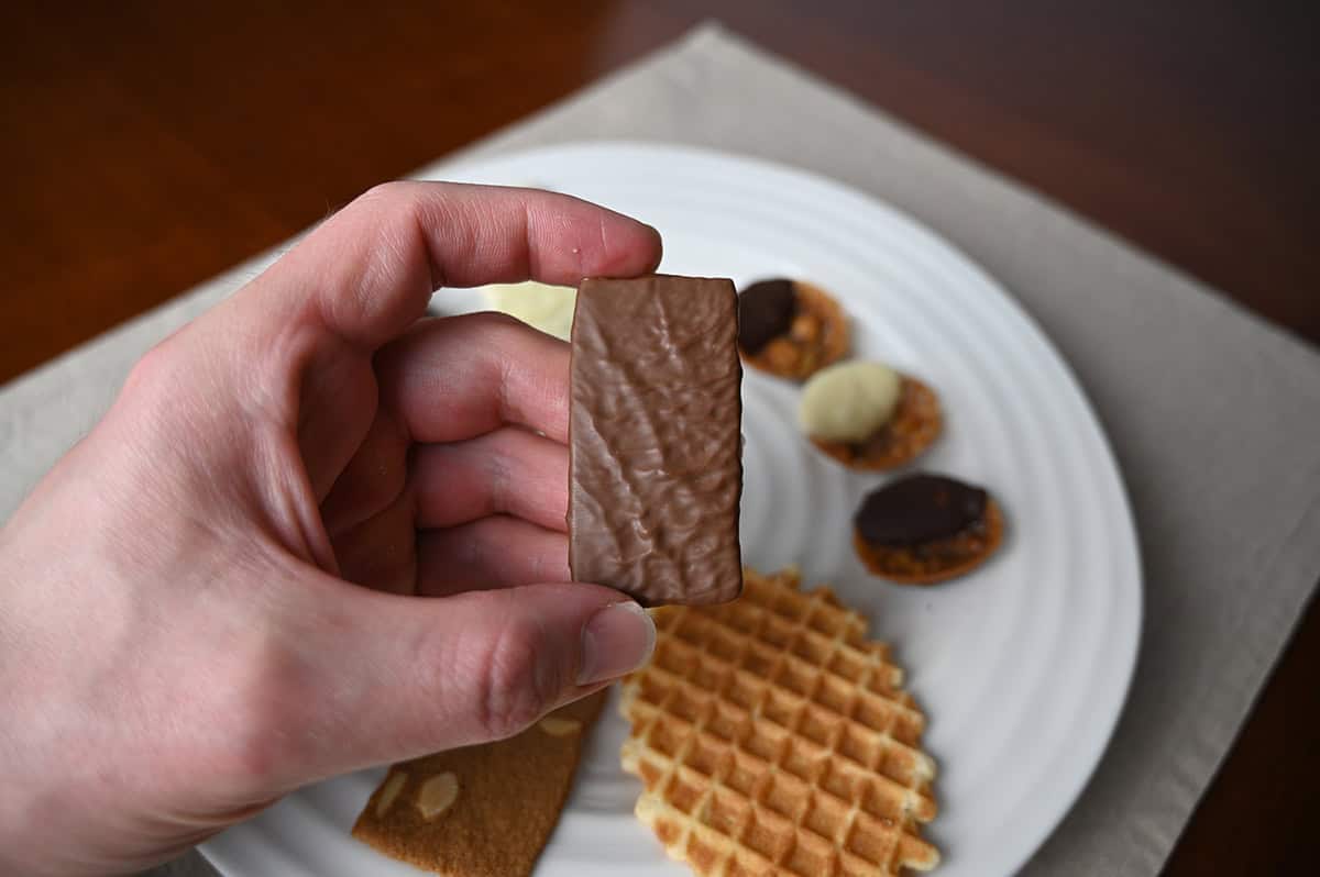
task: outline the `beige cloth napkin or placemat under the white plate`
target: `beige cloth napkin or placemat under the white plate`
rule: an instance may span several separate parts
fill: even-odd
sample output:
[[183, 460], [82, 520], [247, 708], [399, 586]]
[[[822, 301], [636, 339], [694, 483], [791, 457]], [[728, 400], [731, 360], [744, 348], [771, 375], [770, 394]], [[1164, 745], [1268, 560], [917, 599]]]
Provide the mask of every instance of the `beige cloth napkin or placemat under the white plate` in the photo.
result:
[[[1117, 736], [1026, 873], [1155, 874], [1320, 575], [1320, 356], [717, 26], [463, 157], [590, 137], [762, 156], [878, 195], [983, 265], [1063, 349], [1131, 492], [1146, 628]], [[252, 269], [0, 390], [0, 514], [94, 422], [139, 352]], [[214, 872], [194, 856], [154, 873]]]

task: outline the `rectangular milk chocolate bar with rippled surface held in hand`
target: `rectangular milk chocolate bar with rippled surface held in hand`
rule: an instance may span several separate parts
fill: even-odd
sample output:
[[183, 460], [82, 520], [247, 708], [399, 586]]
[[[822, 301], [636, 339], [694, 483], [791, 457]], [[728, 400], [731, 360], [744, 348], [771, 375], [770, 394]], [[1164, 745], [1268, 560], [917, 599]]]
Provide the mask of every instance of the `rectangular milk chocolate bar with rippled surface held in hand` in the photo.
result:
[[569, 566], [643, 605], [742, 591], [733, 282], [585, 280], [573, 319]]

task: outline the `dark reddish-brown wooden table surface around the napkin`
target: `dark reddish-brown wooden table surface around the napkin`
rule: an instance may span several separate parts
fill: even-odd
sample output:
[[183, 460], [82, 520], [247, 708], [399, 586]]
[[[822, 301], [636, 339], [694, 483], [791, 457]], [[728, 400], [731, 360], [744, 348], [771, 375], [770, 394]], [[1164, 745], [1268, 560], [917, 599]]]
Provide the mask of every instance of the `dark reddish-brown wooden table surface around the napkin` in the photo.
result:
[[[13, 5], [0, 381], [708, 15], [1320, 342], [1313, 3]], [[1320, 861], [1316, 666], [1311, 611], [1167, 874]]]

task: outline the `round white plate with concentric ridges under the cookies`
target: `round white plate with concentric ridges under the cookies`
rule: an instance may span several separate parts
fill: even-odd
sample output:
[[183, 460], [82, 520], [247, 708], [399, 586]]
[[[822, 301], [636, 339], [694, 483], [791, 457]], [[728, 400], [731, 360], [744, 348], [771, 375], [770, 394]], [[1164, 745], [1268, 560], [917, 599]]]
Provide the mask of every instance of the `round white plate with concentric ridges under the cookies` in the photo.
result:
[[[882, 476], [846, 473], [795, 429], [797, 389], [744, 381], [744, 558], [833, 582], [895, 646], [929, 716], [941, 877], [1011, 874], [1081, 791], [1127, 692], [1140, 626], [1133, 520], [1104, 433], [1063, 359], [1003, 289], [931, 231], [843, 186], [693, 149], [557, 146], [474, 164], [451, 179], [537, 185], [628, 212], [664, 235], [663, 270], [788, 276], [834, 293], [858, 356], [939, 389], [945, 435], [920, 466], [983, 484], [1008, 537], [981, 571], [935, 588], [869, 578], [850, 516]], [[459, 309], [474, 293], [442, 293]], [[606, 713], [539, 877], [689, 873], [631, 815]], [[230, 877], [407, 877], [348, 836], [381, 777], [305, 789], [205, 845]]]

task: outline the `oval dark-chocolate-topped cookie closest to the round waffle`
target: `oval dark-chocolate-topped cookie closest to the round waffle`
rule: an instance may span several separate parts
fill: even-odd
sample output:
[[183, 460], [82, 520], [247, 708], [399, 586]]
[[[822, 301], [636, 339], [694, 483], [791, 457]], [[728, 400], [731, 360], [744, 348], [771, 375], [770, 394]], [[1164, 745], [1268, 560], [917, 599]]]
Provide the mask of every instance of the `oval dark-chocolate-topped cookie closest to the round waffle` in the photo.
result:
[[874, 575], [935, 584], [985, 563], [1003, 541], [1005, 522], [983, 488], [923, 472], [869, 493], [853, 528], [853, 546]]

